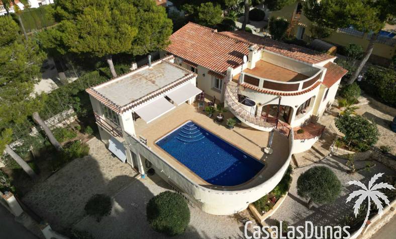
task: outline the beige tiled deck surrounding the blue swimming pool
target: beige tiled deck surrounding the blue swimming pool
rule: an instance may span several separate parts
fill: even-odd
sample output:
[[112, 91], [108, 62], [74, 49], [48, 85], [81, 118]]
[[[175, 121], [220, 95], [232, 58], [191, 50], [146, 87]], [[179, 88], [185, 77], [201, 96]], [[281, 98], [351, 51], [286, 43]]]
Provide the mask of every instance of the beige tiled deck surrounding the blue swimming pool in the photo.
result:
[[[217, 113], [214, 115], [217, 115]], [[258, 183], [270, 178], [287, 160], [289, 153], [288, 139], [283, 135], [275, 133], [272, 143], [273, 154], [264, 154], [262, 148], [267, 146], [269, 138], [268, 132], [242, 126], [235, 126], [234, 129], [230, 130], [225, 127], [225, 122], [228, 118], [233, 117], [233, 115], [229, 112], [224, 115], [225, 120], [223, 125], [218, 125], [213, 122], [213, 117], [209, 118], [206, 113], [203, 112], [202, 107], [198, 110], [196, 103], [194, 105], [182, 104], [149, 124], [146, 124], [142, 119], [138, 119], [135, 122], [135, 130], [137, 136], [141, 135], [147, 139], [147, 145], [153, 151], [159, 154], [163, 159], [167, 160], [171, 165], [179, 170], [179, 172], [202, 186], [215, 188], [215, 185], [212, 185], [197, 176], [194, 172], [189, 170], [155, 144], [159, 138], [188, 120], [192, 120], [200, 124], [202, 127], [218, 135], [222, 139], [264, 162], [264, 169], [261, 170], [252, 180], [237, 186], [224, 186], [225, 188], [228, 190], [241, 190], [257, 185]], [[222, 186], [216, 187], [219, 188]]]

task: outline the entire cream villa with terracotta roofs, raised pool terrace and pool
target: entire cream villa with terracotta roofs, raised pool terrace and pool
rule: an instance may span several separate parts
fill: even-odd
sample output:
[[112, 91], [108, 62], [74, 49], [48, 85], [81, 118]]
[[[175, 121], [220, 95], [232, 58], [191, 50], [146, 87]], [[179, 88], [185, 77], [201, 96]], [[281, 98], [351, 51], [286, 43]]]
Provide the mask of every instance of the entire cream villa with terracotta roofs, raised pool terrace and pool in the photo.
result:
[[[160, 60], [86, 89], [101, 139], [205, 212], [244, 210], [319, 139], [346, 70], [333, 56], [193, 23], [170, 41]], [[204, 111], [221, 103], [240, 121], [232, 130]]]

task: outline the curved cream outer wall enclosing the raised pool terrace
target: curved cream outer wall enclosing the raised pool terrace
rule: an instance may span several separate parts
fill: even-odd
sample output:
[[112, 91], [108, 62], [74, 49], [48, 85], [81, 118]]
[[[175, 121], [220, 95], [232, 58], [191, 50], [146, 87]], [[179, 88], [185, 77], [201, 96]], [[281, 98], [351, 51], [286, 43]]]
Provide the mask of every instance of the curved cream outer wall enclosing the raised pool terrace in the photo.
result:
[[263, 183], [237, 191], [214, 190], [196, 184], [177, 171], [172, 165], [168, 164], [166, 160], [153, 152], [149, 147], [140, 143], [136, 137], [128, 136], [127, 141], [130, 145], [134, 145], [133, 148], [130, 147], [131, 151], [148, 159], [156, 169], [156, 173], [159, 173], [159, 176], [165, 181], [176, 185], [188, 196], [191, 196], [203, 211], [215, 215], [228, 215], [246, 209], [249, 203], [266, 195], [280, 182], [290, 164], [291, 149], [293, 148], [293, 132], [291, 130], [288, 138], [289, 155], [281, 168]]

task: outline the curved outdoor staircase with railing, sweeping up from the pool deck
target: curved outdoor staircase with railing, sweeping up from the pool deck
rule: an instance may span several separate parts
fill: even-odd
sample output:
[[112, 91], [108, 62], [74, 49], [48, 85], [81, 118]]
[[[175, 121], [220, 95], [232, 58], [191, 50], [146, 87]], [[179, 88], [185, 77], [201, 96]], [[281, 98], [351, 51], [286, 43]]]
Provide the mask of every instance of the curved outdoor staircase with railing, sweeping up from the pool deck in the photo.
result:
[[238, 101], [238, 87], [233, 87], [230, 84], [226, 87], [225, 101], [230, 111], [239, 120], [253, 128], [270, 131], [277, 124], [277, 119], [274, 117], [264, 117], [261, 114], [248, 111], [246, 108], [252, 108], [252, 106], [246, 106]]

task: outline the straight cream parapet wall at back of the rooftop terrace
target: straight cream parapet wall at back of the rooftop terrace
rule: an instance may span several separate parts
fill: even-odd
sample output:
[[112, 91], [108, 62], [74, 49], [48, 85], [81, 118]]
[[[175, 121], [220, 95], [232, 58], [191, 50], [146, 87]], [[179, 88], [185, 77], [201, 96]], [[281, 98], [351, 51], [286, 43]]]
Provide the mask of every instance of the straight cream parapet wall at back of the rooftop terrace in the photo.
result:
[[271, 53], [268, 51], [263, 52], [262, 59], [268, 63], [283, 67], [285, 69], [306, 75], [306, 76], [313, 76], [317, 73], [320, 69], [313, 67], [307, 63], [302, 63], [296, 60], [291, 60], [284, 56], [277, 55], [275, 53]]

